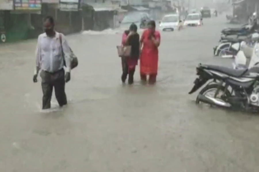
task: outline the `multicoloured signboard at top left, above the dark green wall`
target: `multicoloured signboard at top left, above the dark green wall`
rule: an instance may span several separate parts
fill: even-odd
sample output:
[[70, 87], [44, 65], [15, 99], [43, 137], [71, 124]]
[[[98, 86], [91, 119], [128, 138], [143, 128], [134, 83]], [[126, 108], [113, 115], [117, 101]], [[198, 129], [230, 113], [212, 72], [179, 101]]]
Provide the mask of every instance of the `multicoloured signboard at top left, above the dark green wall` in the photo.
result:
[[15, 10], [41, 10], [41, 0], [14, 0]]

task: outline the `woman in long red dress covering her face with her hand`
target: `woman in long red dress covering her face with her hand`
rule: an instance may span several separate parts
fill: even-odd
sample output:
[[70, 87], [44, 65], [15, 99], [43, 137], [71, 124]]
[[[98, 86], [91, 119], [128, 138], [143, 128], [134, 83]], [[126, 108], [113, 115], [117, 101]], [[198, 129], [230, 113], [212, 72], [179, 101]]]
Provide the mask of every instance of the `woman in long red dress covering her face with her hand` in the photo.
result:
[[149, 75], [149, 84], [155, 84], [157, 78], [158, 47], [161, 37], [155, 28], [155, 21], [149, 21], [148, 29], [143, 32], [140, 39], [140, 48], [142, 48], [140, 55], [140, 78], [146, 82], [147, 75]]

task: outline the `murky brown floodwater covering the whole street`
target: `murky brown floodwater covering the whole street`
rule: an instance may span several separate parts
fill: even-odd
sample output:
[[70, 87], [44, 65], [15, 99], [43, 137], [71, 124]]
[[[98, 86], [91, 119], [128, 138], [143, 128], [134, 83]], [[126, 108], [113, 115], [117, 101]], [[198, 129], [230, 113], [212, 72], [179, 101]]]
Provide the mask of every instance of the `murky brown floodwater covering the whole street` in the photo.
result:
[[[121, 31], [67, 36], [79, 66], [66, 85], [67, 107], [41, 111], [32, 81], [36, 40], [0, 47], [0, 171], [255, 172], [259, 117], [195, 105], [188, 95], [198, 63], [213, 57], [225, 17], [161, 33], [155, 86], [120, 81]], [[92, 34], [94, 33], [94, 34]]]

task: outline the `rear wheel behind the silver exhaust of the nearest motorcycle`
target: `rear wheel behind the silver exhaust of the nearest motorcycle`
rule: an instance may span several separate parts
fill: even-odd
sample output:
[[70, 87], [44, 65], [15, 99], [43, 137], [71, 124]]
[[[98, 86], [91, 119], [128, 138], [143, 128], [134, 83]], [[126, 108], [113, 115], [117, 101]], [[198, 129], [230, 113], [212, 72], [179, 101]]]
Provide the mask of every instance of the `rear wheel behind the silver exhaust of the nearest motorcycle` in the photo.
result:
[[[213, 84], [210, 84], [210, 85], [206, 85], [206, 87], [204, 87], [203, 89], [201, 89], [201, 91], [199, 92], [199, 94], [201, 95], [206, 95], [206, 93], [209, 93], [210, 91], [215, 91], [214, 94], [212, 95], [212, 97], [214, 97], [215, 93], [216, 93], [216, 90], [218, 89], [218, 84], [217, 83], [213, 83]], [[226, 97], [230, 97], [231, 96], [231, 93], [229, 90], [226, 90], [226, 93], [224, 93], [225, 91], [225, 87], [223, 85], [220, 86], [220, 90], [218, 92], [218, 94], [216, 95], [216, 98], [217, 99], [221, 99], [221, 96], [222, 95], [226, 95]], [[221, 93], [221, 95], [220, 95]], [[220, 95], [220, 96], [219, 96]], [[211, 97], [211, 96], [210, 96]], [[223, 100], [224, 101], [224, 100]], [[200, 104], [201, 101], [200, 99], [196, 98], [196, 101], [195, 101], [196, 104]], [[212, 105], [210, 105], [212, 106]]]

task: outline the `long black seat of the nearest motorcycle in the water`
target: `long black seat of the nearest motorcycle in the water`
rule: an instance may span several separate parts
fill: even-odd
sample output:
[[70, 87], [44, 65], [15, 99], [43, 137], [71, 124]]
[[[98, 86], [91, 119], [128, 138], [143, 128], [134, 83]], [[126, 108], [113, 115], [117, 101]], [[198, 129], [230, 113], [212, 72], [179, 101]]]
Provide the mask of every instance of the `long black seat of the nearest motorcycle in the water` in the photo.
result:
[[206, 69], [218, 71], [224, 74], [227, 74], [232, 77], [241, 77], [244, 75], [248, 69], [233, 69], [229, 67], [216, 66], [216, 65], [203, 65]]

